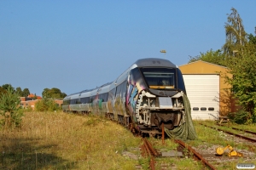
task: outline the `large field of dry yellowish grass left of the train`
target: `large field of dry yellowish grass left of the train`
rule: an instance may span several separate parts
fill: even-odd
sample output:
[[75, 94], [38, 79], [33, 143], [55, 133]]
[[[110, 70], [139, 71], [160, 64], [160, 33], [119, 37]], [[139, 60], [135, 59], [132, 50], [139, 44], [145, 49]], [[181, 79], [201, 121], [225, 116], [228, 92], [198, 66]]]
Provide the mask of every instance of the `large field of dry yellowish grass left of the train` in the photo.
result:
[[62, 112], [27, 112], [0, 139], [0, 169], [134, 169], [121, 152], [141, 143], [113, 122]]

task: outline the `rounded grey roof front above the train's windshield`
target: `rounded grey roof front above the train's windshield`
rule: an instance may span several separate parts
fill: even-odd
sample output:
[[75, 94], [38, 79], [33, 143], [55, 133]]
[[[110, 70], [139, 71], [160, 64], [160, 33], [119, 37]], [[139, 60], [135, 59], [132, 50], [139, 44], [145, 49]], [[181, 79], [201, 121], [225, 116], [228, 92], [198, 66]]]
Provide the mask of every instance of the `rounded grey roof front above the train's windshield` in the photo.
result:
[[171, 61], [159, 58], [137, 59], [134, 64], [136, 64], [138, 67], [177, 67]]

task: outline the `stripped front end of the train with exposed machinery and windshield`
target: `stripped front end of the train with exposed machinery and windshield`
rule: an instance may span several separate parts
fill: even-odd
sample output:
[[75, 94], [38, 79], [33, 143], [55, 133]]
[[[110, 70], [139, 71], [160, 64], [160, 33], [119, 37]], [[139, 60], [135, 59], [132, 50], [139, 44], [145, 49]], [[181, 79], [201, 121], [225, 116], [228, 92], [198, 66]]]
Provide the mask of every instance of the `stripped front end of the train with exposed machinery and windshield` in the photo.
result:
[[183, 76], [176, 65], [166, 59], [137, 63], [130, 71], [126, 106], [133, 122], [143, 133], [161, 133], [185, 123]]

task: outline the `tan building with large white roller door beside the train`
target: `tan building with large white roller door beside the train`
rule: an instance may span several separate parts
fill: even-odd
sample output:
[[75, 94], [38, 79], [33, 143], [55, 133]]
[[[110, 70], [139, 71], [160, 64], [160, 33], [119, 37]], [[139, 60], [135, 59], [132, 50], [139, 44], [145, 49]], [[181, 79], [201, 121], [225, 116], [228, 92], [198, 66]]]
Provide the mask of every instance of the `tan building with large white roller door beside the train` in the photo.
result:
[[230, 85], [225, 83], [227, 67], [205, 61], [179, 66], [183, 73], [194, 119], [216, 119], [231, 111]]

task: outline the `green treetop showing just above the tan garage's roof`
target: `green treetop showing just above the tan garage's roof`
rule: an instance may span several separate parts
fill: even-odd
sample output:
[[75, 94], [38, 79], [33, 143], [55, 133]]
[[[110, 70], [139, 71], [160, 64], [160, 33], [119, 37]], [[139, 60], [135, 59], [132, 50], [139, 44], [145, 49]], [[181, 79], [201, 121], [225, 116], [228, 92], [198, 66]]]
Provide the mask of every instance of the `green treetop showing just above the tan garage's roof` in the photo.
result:
[[224, 54], [222, 53], [221, 50], [216, 50], [213, 51], [212, 49], [210, 51], [207, 51], [207, 53], [200, 53], [200, 56], [196, 56], [196, 57], [190, 57], [189, 59], [189, 63], [191, 62], [195, 62], [197, 60], [202, 60], [202, 61], [206, 61], [209, 63], [213, 63], [216, 65], [224, 65]]

